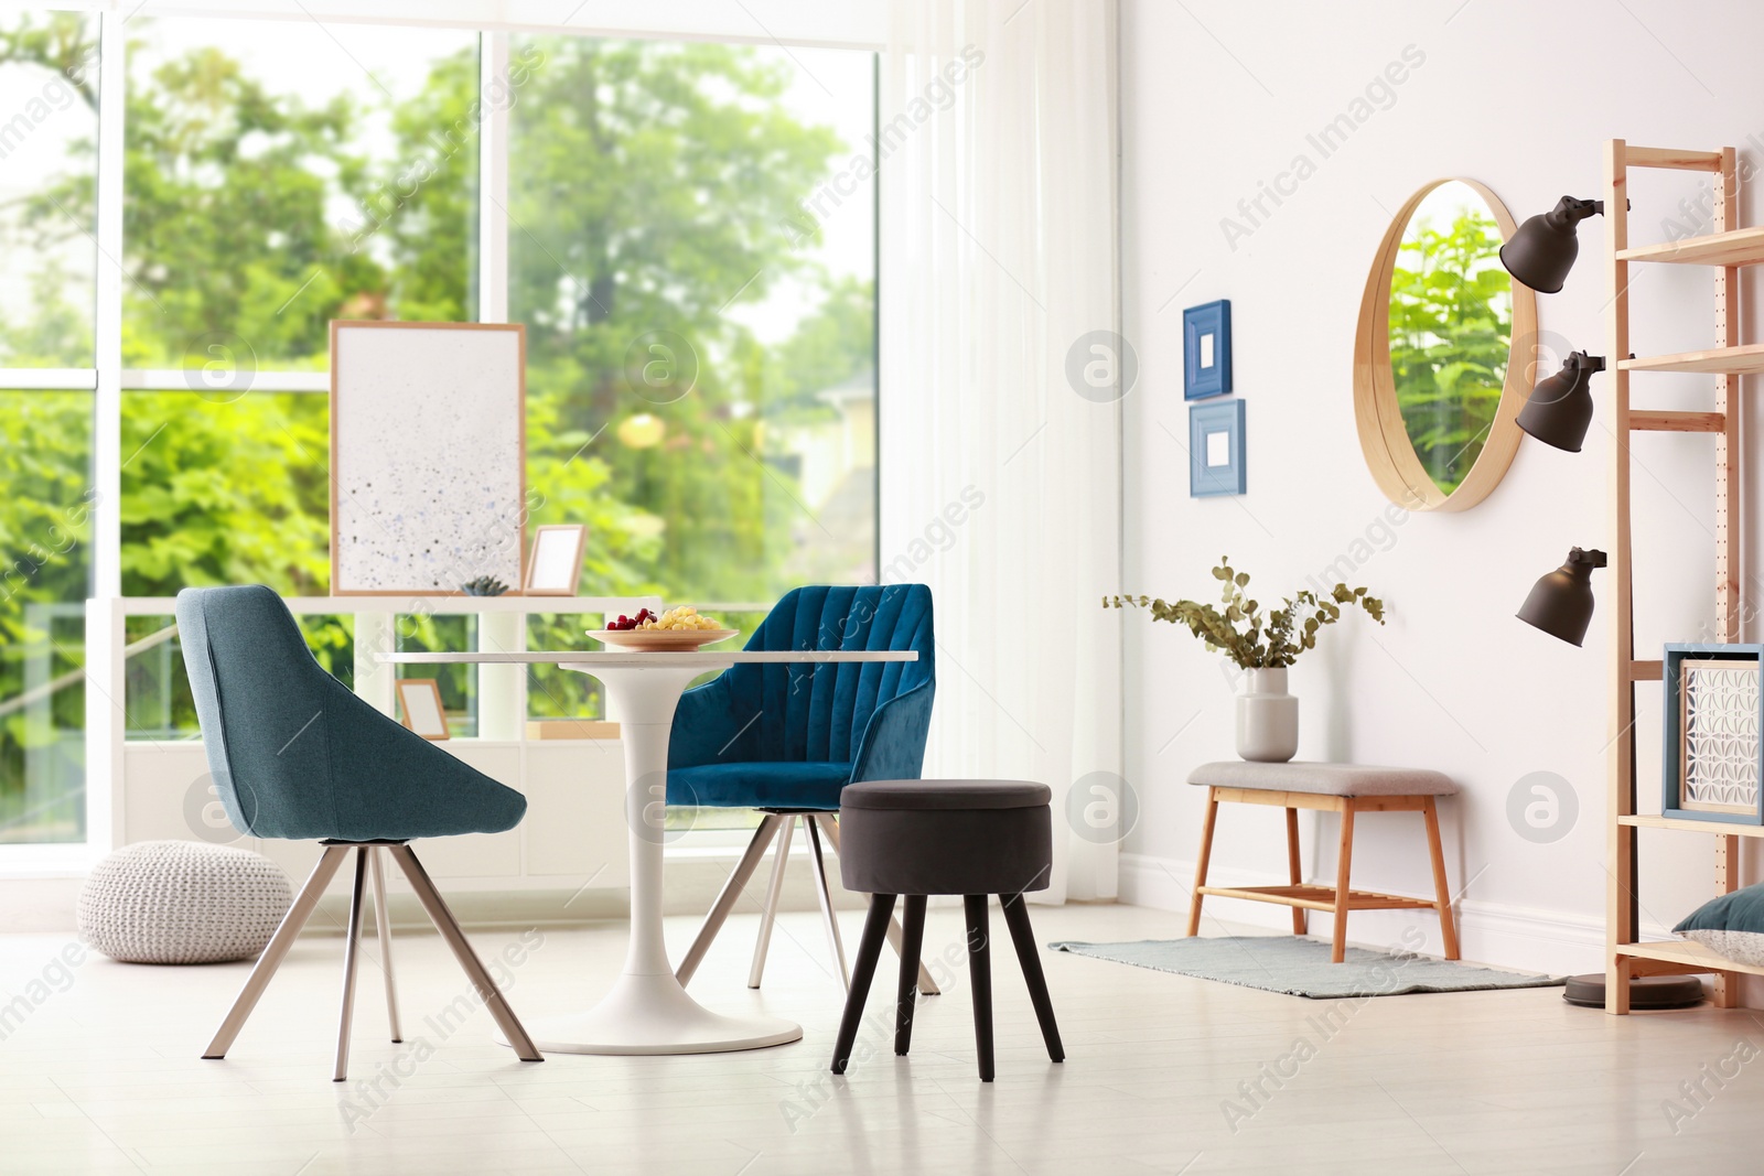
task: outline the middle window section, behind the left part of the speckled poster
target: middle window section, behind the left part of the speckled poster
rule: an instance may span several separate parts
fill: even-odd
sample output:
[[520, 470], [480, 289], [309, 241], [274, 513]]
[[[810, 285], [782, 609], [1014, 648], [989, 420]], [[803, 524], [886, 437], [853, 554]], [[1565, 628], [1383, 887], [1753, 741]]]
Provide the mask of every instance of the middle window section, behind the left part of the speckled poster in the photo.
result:
[[328, 591], [325, 384], [289, 374], [332, 319], [475, 317], [476, 90], [475, 33], [131, 21], [125, 386], [169, 390], [123, 397], [123, 592]]

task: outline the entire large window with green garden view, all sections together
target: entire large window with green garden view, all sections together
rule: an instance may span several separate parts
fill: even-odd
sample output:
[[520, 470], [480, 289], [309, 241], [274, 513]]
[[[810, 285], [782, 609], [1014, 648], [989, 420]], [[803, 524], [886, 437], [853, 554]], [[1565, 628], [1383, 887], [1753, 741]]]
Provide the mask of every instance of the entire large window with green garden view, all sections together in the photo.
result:
[[[106, 19], [101, 102], [97, 18], [0, 18], [0, 841], [83, 837], [93, 568], [131, 596], [328, 592], [332, 319], [527, 324], [533, 522], [587, 524], [584, 592], [750, 628], [794, 584], [875, 580], [873, 55]], [[129, 726], [182, 737], [162, 624], [127, 633]], [[348, 677], [348, 621], [305, 628]], [[591, 689], [536, 670], [531, 712]], [[471, 675], [446, 691], [471, 733]]]

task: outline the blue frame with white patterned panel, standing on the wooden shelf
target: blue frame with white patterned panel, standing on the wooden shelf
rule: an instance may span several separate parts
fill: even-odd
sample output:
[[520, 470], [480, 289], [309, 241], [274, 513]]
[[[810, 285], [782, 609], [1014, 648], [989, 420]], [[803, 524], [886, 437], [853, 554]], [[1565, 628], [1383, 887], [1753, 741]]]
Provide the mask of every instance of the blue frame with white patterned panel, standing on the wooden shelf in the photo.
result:
[[[1667, 645], [1660, 813], [1764, 825], [1764, 645]], [[1693, 744], [1699, 755], [1693, 755]]]

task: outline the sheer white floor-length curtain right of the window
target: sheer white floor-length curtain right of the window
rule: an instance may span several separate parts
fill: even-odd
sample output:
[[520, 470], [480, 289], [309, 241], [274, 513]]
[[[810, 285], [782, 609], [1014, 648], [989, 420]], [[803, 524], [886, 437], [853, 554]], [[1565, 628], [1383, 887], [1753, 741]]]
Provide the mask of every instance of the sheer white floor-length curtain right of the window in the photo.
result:
[[896, 0], [877, 145], [882, 578], [937, 599], [924, 774], [1051, 785], [1055, 903], [1115, 896], [1122, 804], [1115, 23]]

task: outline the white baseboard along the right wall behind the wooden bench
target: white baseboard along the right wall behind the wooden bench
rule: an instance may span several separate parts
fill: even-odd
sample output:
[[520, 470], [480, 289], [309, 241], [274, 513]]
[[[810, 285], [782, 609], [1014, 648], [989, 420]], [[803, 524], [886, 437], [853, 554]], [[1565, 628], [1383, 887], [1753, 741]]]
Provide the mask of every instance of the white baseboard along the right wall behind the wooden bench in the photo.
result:
[[[1284, 885], [1286, 878], [1244, 869], [1214, 866], [1208, 882], [1222, 887]], [[1120, 855], [1120, 901], [1154, 910], [1187, 915], [1189, 890], [1194, 885], [1194, 862], [1150, 853]], [[1291, 912], [1272, 903], [1244, 899], [1207, 899], [1205, 912], [1224, 922], [1291, 931]], [[1175, 926], [1171, 934], [1184, 927]], [[1330, 934], [1334, 915], [1311, 913], [1311, 933]], [[1439, 924], [1425, 910], [1362, 910], [1348, 924], [1349, 942], [1362, 947], [1406, 947], [1404, 933], [1418, 929], [1427, 936], [1422, 952], [1438, 954]], [[1203, 926], [1205, 931], [1205, 926]], [[1512, 906], [1480, 899], [1459, 899], [1457, 934], [1464, 959], [1522, 971], [1575, 975], [1603, 971], [1605, 920], [1600, 915], [1547, 910], [1538, 906]], [[1642, 927], [1644, 938], [1667, 938], [1665, 927]]]

